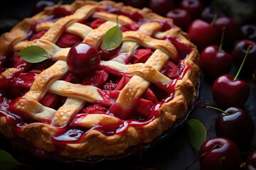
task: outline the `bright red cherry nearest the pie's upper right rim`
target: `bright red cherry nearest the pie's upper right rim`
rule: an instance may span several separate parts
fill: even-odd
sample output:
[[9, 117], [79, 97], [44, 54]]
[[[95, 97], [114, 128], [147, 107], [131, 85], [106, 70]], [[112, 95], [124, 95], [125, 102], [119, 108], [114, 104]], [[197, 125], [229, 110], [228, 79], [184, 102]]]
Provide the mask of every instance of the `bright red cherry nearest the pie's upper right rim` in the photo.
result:
[[214, 45], [217, 41], [217, 31], [209, 23], [201, 19], [194, 20], [188, 27], [188, 35], [199, 50], [208, 45]]

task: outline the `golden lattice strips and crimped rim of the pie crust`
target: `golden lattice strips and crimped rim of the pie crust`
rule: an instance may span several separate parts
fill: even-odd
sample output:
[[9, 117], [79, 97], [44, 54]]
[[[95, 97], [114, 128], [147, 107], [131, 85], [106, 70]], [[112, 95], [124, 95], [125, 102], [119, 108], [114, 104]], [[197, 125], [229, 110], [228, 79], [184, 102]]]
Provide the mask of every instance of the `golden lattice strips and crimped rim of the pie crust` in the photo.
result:
[[[124, 88], [118, 92], [117, 98], [108, 96], [107, 91], [95, 86], [73, 84], [61, 80], [68, 72], [68, 65], [65, 60], [70, 47], [55, 45], [65, 30], [66, 33], [79, 35], [82, 42], [88, 42], [96, 48], [99, 47], [107, 30], [117, 25], [116, 15], [105, 12], [107, 6], [129, 13], [139, 12], [145, 19], [154, 19], [152, 22], [143, 23], [137, 31], [124, 32], [122, 46], [117, 57], [108, 61], [102, 60], [100, 63], [101, 67], [109, 67], [130, 78]], [[57, 60], [55, 64], [38, 74], [28, 93], [18, 98], [14, 104], [14, 108], [21, 116], [36, 120], [34, 123], [23, 125], [21, 132], [18, 133], [19, 137], [26, 139], [40, 149], [45, 149], [47, 152], [55, 152], [53, 139], [55, 139], [55, 132], [61, 128], [74, 125], [79, 128], [90, 129], [80, 137], [79, 142], [67, 142], [60, 152], [62, 157], [85, 159], [97, 155], [119, 154], [130, 146], [151, 142], [161, 135], [161, 132], [171, 128], [176, 119], [183, 117], [195, 96], [195, 86], [199, 77], [198, 50], [188, 40], [188, 35], [174, 26], [170, 18], [158, 16], [148, 8], [139, 10], [112, 1], [75, 1], [73, 4], [63, 5], [63, 7], [75, 11], [75, 13], [60, 18], [55, 23], [51, 21], [38, 23], [35, 28], [37, 32], [47, 30], [39, 39], [23, 41], [31, 25], [50, 16], [55, 7], [48, 7], [36, 16], [24, 19], [10, 33], [1, 36], [1, 57], [10, 50], [15, 52], [30, 45], [38, 45], [43, 47], [53, 60]], [[79, 23], [79, 21], [85, 21], [90, 17], [100, 18], [106, 22], [96, 29]], [[122, 15], [118, 16], [118, 20], [120, 27], [134, 23], [131, 18]], [[156, 20], [168, 21], [174, 28], [161, 32], [162, 26]], [[153, 35], [154, 37], [152, 37]], [[191, 49], [189, 55], [182, 62], [179, 62], [176, 47], [169, 41], [161, 40], [167, 36], [177, 38], [183, 45]], [[126, 64], [124, 57], [131, 56], [140, 46], [154, 49], [153, 54], [145, 63]], [[161, 74], [161, 69], [168, 60], [172, 60], [176, 64], [181, 63], [183, 67], [188, 68], [180, 79], [170, 79]], [[19, 68], [6, 69], [1, 73], [0, 79], [9, 78], [19, 70]], [[151, 84], [155, 84], [159, 88], [166, 87], [169, 93], [174, 93], [173, 99], [157, 106], [159, 107], [159, 114], [156, 118], [151, 118], [145, 122], [144, 125], [128, 125], [125, 115], [134, 107], [134, 102], [144, 94]], [[43, 106], [40, 103], [41, 98], [48, 92], [65, 96], [67, 100], [57, 110]], [[77, 113], [85, 106], [85, 103], [100, 104], [110, 108], [111, 114], [87, 114], [79, 117]], [[122, 113], [116, 113], [116, 106], [119, 108], [121, 106]], [[7, 115], [1, 116], [0, 132], [7, 137], [14, 137], [17, 134], [12, 132], [11, 125], [8, 123], [9, 119]], [[120, 123], [123, 123], [127, 130], [122, 133], [117, 132], [114, 135], [105, 135], [95, 128], [98, 125], [117, 125]]]

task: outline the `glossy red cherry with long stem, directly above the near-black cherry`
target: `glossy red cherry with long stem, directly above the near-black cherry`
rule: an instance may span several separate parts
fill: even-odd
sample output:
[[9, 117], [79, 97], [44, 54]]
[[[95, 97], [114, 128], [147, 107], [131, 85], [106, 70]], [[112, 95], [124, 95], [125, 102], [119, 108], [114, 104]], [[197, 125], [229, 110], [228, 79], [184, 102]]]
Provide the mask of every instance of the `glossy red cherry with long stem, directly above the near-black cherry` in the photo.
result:
[[215, 103], [225, 108], [242, 106], [250, 95], [245, 81], [236, 80], [232, 75], [224, 74], [215, 79], [212, 96]]

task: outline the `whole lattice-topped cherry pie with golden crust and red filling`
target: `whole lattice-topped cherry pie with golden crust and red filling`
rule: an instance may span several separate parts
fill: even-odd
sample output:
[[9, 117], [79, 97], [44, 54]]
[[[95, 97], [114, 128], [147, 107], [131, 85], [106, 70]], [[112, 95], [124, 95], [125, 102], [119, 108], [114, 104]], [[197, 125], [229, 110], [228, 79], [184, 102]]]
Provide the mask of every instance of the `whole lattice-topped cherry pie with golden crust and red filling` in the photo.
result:
[[[102, 38], [117, 16], [122, 44], [106, 52]], [[100, 67], [82, 79], [66, 62], [78, 42], [103, 51]], [[31, 45], [50, 59], [22, 60], [18, 52]], [[149, 8], [113, 1], [47, 7], [1, 35], [0, 132], [58, 157], [122, 154], [183, 118], [196, 96], [198, 59], [187, 33]]]

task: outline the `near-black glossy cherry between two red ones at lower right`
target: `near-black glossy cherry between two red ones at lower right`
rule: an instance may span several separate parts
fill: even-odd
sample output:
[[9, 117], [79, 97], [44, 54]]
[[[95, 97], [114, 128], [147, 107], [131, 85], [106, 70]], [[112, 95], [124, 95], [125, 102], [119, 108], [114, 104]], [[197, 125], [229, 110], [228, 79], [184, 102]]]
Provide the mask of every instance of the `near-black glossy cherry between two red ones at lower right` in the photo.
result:
[[237, 107], [228, 108], [225, 113], [215, 121], [216, 135], [228, 138], [240, 147], [248, 147], [255, 135], [255, 125], [250, 115]]

